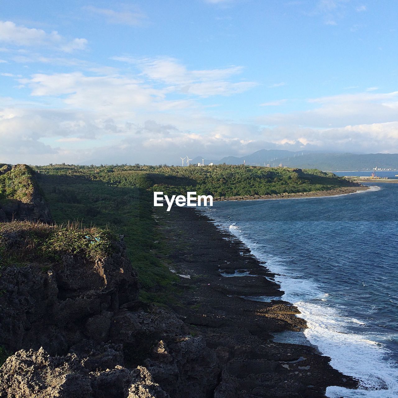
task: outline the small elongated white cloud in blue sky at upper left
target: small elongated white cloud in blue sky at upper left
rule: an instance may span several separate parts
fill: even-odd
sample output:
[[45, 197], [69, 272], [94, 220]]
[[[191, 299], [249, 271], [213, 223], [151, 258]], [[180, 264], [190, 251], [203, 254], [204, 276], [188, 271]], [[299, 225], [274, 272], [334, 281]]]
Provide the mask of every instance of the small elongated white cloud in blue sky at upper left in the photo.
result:
[[68, 53], [82, 50], [87, 45], [86, 39], [69, 41], [57, 31], [46, 33], [42, 29], [27, 28], [12, 21], [0, 21], [0, 42], [19, 47], [47, 46]]

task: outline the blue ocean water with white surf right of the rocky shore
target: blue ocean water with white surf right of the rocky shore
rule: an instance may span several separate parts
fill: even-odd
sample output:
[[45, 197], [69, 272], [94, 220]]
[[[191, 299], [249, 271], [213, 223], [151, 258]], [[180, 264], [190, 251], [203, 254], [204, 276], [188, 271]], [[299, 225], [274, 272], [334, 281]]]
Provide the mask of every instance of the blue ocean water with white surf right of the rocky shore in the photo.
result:
[[306, 339], [359, 380], [358, 390], [329, 387], [333, 398], [398, 397], [398, 184], [369, 185], [204, 210], [267, 261], [306, 319]]

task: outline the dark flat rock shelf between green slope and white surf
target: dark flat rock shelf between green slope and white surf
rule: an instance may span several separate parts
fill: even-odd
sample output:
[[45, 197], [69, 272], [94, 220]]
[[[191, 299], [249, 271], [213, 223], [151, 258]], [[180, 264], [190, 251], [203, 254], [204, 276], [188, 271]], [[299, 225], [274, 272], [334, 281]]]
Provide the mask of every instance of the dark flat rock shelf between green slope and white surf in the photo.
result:
[[[222, 396], [324, 397], [328, 386], [357, 386], [316, 347], [273, 341], [275, 333], [304, 330], [306, 321], [291, 303], [274, 300], [284, 293], [275, 274], [242, 241], [195, 209], [174, 207], [157, 216], [183, 288], [173, 310], [217, 354], [222, 367], [217, 391], [228, 391]], [[265, 301], [250, 300], [255, 297]]]

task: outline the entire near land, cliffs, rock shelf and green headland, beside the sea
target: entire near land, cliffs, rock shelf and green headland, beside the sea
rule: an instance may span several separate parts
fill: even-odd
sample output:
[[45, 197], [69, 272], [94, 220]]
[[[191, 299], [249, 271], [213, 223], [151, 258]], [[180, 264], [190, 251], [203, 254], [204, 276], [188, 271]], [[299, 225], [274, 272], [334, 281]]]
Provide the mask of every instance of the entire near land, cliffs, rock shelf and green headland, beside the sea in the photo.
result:
[[[272, 299], [283, 292], [266, 264], [194, 209], [153, 207], [151, 194], [357, 184], [303, 170], [123, 170], [133, 167], [2, 166], [0, 396], [323, 397], [357, 385], [316, 347], [273, 341], [306, 324]], [[242, 298], [256, 296], [269, 300]]]

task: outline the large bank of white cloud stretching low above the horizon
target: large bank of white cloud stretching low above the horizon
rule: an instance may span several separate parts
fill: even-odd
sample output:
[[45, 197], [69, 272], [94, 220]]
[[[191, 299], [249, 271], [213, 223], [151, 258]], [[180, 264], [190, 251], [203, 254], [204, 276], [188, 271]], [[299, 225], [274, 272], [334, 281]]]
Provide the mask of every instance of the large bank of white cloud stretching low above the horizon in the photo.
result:
[[181, 153], [220, 159], [259, 148], [398, 151], [398, 92], [312, 98], [305, 111], [227, 123], [211, 117], [212, 104], [202, 105], [201, 98], [253, 87], [240, 79], [242, 66], [194, 70], [173, 58], [114, 59], [128, 62], [128, 72], [11, 75], [30, 90], [31, 103], [11, 107], [12, 99], [0, 98], [2, 161], [176, 164]]

